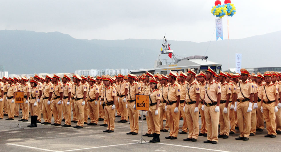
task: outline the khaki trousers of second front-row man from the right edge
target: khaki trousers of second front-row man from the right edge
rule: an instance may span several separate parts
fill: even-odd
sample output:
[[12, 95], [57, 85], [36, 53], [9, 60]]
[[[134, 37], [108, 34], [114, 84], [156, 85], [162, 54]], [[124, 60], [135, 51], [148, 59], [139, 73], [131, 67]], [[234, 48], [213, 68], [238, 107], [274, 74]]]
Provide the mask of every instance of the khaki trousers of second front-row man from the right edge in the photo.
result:
[[238, 127], [240, 131], [240, 137], [250, 136], [251, 130], [251, 112], [247, 112], [249, 107], [249, 101], [238, 102], [237, 103], [237, 118], [238, 118]]

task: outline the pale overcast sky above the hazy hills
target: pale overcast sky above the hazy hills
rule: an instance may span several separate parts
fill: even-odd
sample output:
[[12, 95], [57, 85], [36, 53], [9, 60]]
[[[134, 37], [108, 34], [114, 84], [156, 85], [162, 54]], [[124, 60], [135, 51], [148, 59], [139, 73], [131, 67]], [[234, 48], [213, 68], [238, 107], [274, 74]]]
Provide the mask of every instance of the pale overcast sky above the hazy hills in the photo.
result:
[[[1, 0], [0, 30], [69, 34], [78, 39], [215, 40], [215, 0]], [[270, 3], [269, 3], [270, 2]], [[224, 1], [222, 1], [224, 3]], [[281, 30], [280, 0], [232, 0], [230, 39]], [[270, 5], [271, 4], [271, 5]], [[227, 17], [223, 17], [227, 38]], [[213, 36], [212, 36], [213, 35]]]

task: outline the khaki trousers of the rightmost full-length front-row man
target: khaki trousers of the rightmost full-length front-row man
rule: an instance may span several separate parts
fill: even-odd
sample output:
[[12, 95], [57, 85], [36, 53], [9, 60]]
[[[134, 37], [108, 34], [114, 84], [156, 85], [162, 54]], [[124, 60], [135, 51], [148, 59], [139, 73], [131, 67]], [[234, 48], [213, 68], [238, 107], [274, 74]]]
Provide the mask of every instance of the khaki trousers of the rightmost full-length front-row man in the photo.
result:
[[276, 123], [275, 123], [275, 102], [272, 102], [270, 104], [262, 103], [263, 107], [263, 115], [264, 119], [266, 120], [266, 130], [268, 131], [269, 135], [276, 135]]

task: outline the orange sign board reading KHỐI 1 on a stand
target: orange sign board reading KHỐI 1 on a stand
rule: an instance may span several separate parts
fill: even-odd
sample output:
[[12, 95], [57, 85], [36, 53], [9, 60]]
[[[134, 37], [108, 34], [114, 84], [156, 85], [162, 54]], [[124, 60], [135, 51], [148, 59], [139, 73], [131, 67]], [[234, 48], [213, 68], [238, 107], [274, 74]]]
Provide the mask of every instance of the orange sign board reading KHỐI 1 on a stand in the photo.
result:
[[149, 111], [149, 95], [136, 94], [136, 110]]

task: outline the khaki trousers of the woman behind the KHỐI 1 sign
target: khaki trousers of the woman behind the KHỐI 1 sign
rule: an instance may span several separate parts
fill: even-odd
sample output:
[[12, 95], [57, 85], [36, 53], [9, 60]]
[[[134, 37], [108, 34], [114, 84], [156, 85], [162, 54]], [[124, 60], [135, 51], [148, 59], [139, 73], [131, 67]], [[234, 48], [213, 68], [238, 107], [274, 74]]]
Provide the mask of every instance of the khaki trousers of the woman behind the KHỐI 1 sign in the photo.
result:
[[[154, 105], [152, 107], [153, 108], [149, 108], [149, 109], [152, 109], [152, 111], [148, 112], [151, 130], [153, 133], [160, 134], [160, 114], [158, 113], [158, 115], [155, 115], [154, 108], [156, 108], [156, 105]], [[159, 108], [158, 108], [158, 111], [160, 112]], [[162, 122], [163, 122], [163, 120], [162, 120]]]

